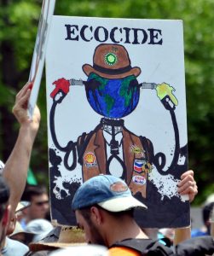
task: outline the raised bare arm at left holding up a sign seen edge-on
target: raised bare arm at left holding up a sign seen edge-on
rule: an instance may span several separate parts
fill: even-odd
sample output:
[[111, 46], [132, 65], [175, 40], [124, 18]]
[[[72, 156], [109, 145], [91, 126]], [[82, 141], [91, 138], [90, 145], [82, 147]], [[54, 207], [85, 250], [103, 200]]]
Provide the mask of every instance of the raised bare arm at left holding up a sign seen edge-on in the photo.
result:
[[9, 155], [4, 169], [3, 176], [10, 188], [9, 204], [11, 213], [20, 201], [25, 189], [27, 169], [31, 159], [32, 145], [38, 132], [40, 112], [35, 108], [33, 118], [27, 117], [27, 102], [31, 94], [32, 84], [27, 83], [15, 98], [13, 113], [20, 124], [20, 131], [12, 153]]

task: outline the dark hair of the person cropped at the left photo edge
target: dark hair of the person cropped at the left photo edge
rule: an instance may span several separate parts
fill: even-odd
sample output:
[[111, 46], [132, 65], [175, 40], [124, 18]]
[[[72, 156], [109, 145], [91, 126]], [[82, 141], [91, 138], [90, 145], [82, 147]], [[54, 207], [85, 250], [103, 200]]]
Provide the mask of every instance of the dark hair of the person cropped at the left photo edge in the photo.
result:
[[3, 212], [5, 211], [9, 203], [9, 186], [5, 182], [4, 178], [0, 176], [0, 221], [3, 218]]

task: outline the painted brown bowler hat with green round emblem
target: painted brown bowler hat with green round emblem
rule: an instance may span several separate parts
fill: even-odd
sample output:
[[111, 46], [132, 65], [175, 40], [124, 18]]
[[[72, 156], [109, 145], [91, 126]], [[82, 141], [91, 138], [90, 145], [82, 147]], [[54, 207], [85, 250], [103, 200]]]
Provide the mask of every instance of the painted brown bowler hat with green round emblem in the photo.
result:
[[95, 48], [93, 67], [84, 64], [84, 73], [96, 73], [106, 79], [123, 79], [127, 76], [139, 76], [142, 72], [140, 67], [130, 66], [130, 56], [123, 45], [99, 44]]

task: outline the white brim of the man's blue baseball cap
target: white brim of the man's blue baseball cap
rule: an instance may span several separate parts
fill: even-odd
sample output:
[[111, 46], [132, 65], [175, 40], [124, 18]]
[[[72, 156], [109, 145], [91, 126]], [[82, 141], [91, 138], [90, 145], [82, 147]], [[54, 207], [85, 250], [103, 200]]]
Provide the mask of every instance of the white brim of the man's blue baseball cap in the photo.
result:
[[136, 207], [147, 209], [146, 205], [133, 196], [113, 198], [100, 202], [98, 205], [109, 212], [124, 212]]

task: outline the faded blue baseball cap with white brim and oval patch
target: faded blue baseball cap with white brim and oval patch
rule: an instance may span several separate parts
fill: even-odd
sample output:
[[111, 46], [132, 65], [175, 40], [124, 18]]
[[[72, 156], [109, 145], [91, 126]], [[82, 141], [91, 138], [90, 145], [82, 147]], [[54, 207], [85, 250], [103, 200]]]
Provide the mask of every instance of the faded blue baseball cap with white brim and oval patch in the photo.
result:
[[119, 177], [99, 175], [91, 177], [77, 190], [72, 200], [74, 211], [99, 205], [109, 212], [123, 212], [135, 207], [147, 207], [131, 195], [130, 189]]

